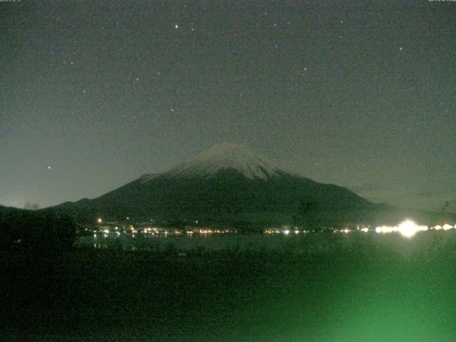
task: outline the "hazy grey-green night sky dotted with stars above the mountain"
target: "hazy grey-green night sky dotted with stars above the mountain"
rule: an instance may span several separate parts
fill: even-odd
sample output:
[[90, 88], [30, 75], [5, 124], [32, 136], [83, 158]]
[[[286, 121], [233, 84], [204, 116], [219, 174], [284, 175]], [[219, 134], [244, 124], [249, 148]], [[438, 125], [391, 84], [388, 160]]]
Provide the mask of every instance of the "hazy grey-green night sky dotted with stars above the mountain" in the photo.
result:
[[456, 199], [456, 2], [23, 0], [0, 26], [0, 204], [225, 141], [371, 199]]

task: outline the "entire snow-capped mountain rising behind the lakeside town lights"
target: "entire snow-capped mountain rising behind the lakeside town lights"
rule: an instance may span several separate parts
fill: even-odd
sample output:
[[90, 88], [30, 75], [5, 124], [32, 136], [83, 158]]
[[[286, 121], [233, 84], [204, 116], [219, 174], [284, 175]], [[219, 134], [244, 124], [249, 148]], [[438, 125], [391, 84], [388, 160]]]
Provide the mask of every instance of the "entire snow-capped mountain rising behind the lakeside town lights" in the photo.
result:
[[53, 209], [80, 217], [266, 225], [286, 224], [300, 211], [309, 214], [309, 208], [322, 224], [353, 222], [378, 206], [344, 187], [283, 170], [244, 145], [225, 142], [167, 172], [143, 175], [98, 198]]

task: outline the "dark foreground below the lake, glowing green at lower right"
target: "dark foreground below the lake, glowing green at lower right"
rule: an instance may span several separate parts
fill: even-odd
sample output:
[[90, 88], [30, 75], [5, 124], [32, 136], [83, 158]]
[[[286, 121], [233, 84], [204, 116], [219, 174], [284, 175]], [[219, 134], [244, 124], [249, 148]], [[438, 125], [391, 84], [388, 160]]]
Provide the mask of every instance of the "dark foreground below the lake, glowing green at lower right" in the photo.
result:
[[[4, 341], [454, 341], [454, 232], [309, 235], [306, 252], [4, 258]], [[303, 240], [306, 244], [308, 241]], [[5, 256], [4, 256], [5, 257]]]

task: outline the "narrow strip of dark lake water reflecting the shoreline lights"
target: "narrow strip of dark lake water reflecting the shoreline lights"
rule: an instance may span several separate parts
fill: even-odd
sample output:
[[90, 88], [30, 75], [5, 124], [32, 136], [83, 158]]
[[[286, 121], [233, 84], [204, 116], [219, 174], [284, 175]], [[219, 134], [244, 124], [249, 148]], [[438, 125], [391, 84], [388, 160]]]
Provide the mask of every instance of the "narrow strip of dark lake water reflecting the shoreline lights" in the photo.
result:
[[94, 234], [78, 237], [76, 247], [138, 252], [291, 252], [321, 254], [351, 252], [366, 248], [388, 247], [392, 252], [410, 254], [455, 243], [454, 231], [420, 232], [412, 239], [399, 233], [375, 232], [306, 234]]

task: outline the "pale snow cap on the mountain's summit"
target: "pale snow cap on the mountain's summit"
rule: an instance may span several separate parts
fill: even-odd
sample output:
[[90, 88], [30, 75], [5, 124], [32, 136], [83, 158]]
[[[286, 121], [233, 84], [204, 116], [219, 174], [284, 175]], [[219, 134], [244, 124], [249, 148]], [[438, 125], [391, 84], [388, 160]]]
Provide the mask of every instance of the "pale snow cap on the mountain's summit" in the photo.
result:
[[249, 179], [266, 180], [279, 175], [279, 167], [274, 162], [255, 155], [244, 145], [231, 142], [214, 145], [166, 174], [171, 177], [211, 177], [221, 170], [236, 170]]

